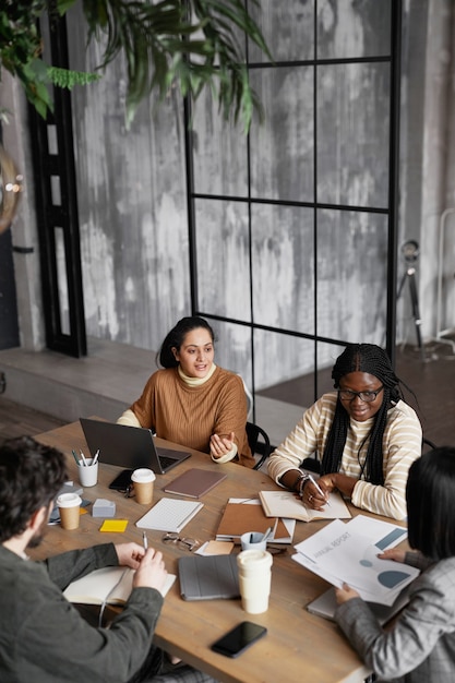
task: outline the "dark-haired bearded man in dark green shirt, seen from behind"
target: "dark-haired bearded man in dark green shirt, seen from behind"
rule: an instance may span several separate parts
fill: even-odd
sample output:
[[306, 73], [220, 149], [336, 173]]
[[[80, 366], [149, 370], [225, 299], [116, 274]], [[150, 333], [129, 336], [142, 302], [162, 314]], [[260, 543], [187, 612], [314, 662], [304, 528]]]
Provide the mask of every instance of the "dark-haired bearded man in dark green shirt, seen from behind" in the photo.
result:
[[[163, 659], [161, 650], [152, 646], [167, 575], [160, 552], [144, 551], [133, 542], [105, 543], [45, 562], [28, 561], [26, 549], [43, 539], [64, 480], [64, 457], [55, 448], [26, 436], [0, 447], [0, 680], [151, 680], [159, 673]], [[133, 590], [110, 627], [95, 628], [62, 590], [76, 578], [110, 565], [136, 570]], [[193, 669], [182, 679], [209, 680]]]

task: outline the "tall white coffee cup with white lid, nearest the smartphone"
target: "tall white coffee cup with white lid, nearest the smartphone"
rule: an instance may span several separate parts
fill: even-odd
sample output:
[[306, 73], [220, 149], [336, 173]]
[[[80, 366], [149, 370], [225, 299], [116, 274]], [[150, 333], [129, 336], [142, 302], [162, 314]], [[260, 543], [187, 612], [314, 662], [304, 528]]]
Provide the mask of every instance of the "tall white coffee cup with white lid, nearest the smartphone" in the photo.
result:
[[266, 550], [242, 550], [237, 555], [242, 608], [249, 614], [268, 609], [273, 558]]

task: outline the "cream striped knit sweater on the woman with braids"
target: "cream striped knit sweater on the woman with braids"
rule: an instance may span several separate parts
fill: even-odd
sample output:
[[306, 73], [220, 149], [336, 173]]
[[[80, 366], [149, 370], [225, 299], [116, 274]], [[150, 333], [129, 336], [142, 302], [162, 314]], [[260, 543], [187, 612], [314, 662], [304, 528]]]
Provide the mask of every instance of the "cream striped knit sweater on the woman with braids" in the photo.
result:
[[[310, 456], [322, 459], [325, 443], [335, 415], [337, 393], [324, 394], [309, 408], [292, 432], [271, 455], [268, 474], [277, 483], [283, 475], [298, 468]], [[360, 455], [359, 448], [368, 435], [374, 418], [364, 422], [350, 419], [339, 472], [359, 479], [367, 455], [368, 439]], [[351, 502], [357, 507], [394, 519], [406, 516], [405, 489], [408, 469], [420, 456], [422, 430], [410, 406], [398, 400], [387, 412], [383, 438], [384, 486], [359, 480], [354, 487]]]

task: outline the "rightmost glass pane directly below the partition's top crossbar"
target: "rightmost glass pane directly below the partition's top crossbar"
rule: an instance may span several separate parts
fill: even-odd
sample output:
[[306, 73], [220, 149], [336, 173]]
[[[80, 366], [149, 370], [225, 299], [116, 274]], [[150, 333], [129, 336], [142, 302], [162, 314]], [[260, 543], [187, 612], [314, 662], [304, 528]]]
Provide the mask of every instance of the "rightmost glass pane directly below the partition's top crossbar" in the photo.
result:
[[388, 201], [388, 64], [318, 70], [318, 200], [385, 208]]

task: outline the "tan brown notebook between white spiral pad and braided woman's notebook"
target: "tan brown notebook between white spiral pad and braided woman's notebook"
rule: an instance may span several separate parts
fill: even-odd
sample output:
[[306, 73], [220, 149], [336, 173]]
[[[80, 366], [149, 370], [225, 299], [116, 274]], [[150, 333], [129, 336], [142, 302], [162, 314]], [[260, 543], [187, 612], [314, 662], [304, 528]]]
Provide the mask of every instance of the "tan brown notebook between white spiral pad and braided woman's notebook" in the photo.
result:
[[247, 531], [265, 532], [272, 527], [272, 542], [290, 543], [292, 541], [283, 519], [266, 517], [262, 505], [251, 503], [227, 503], [216, 532], [216, 540], [240, 542], [240, 536]]

